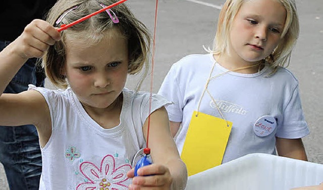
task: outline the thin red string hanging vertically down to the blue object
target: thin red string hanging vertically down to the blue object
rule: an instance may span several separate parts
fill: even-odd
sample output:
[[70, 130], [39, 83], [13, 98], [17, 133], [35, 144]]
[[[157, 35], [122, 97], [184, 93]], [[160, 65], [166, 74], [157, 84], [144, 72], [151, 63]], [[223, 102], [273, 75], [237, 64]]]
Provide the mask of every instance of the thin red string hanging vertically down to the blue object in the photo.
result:
[[[154, 28], [153, 28], [153, 41], [152, 41], [152, 60], [151, 60], [151, 76], [150, 76], [150, 94], [149, 94], [149, 114], [151, 112], [151, 99], [152, 99], [152, 87], [153, 87], [153, 67], [154, 67], [154, 59], [155, 59], [155, 45], [156, 45], [156, 25], [157, 25], [157, 10], [158, 10], [158, 0], [156, 0], [156, 7], [155, 7], [155, 21], [154, 21]], [[148, 116], [148, 130], [147, 130], [147, 147], [149, 142], [149, 130], [150, 130], [150, 115]], [[150, 152], [150, 149], [149, 149]]]

